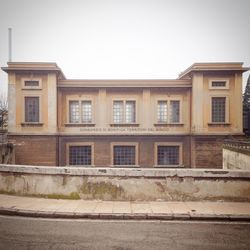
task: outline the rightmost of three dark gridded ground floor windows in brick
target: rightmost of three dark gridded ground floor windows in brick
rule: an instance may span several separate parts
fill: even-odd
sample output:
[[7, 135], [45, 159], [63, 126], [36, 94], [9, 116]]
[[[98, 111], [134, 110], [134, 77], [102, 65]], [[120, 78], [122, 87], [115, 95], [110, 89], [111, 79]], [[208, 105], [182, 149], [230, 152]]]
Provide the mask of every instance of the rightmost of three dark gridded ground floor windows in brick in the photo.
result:
[[179, 165], [179, 146], [157, 146], [157, 165]]

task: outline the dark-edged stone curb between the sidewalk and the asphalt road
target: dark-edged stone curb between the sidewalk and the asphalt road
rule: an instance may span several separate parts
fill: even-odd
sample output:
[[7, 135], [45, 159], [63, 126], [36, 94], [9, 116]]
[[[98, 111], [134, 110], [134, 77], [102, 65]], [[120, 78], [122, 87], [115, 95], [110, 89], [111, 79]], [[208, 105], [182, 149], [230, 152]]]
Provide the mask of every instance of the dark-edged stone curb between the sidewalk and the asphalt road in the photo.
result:
[[18, 208], [0, 208], [0, 215], [55, 219], [102, 219], [102, 220], [203, 220], [203, 221], [250, 221], [250, 214], [152, 214], [152, 213], [72, 213], [57, 211], [34, 211]]

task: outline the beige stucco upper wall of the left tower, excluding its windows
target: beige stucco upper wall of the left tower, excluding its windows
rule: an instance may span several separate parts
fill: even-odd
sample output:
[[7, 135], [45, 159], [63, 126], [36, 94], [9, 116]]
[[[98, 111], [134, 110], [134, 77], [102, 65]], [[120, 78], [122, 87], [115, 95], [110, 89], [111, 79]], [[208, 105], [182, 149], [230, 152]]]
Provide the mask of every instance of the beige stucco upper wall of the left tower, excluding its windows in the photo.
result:
[[[23, 88], [24, 79], [39, 79], [41, 89]], [[11, 133], [56, 133], [57, 132], [57, 78], [55, 73], [10, 73], [9, 74], [9, 132]], [[24, 126], [24, 98], [40, 98], [41, 126]]]

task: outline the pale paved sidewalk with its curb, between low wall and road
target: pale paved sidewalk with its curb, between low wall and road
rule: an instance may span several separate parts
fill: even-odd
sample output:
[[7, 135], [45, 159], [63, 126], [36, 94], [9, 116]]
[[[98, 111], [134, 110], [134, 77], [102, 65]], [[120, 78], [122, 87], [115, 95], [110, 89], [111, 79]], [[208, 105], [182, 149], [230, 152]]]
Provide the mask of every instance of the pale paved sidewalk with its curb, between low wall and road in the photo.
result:
[[47, 218], [250, 221], [250, 203], [56, 200], [0, 195], [0, 214]]

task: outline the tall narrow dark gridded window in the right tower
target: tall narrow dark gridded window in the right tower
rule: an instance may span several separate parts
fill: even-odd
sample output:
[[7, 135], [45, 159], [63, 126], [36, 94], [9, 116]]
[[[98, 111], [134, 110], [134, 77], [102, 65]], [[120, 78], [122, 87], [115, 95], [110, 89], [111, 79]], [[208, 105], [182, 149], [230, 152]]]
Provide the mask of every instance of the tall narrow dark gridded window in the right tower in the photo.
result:
[[226, 122], [226, 97], [212, 97], [212, 122]]

